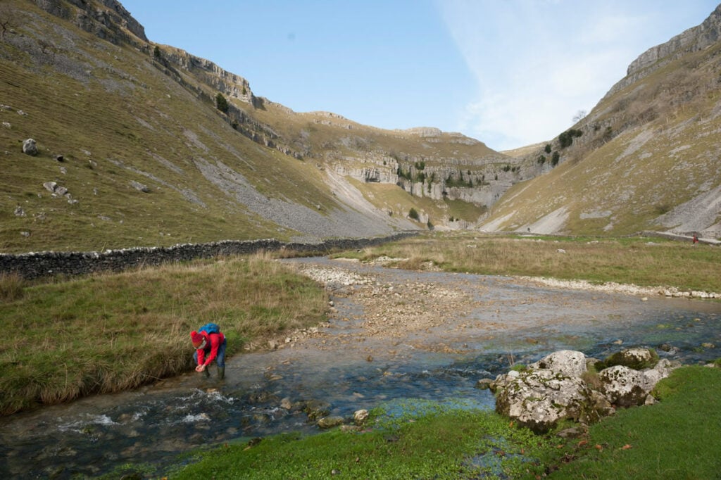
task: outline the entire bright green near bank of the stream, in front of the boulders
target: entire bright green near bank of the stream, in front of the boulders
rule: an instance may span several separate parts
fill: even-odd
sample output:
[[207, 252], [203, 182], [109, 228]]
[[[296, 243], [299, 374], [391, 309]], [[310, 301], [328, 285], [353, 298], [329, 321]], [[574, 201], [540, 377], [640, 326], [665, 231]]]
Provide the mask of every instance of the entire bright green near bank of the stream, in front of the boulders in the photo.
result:
[[[621, 409], [564, 440], [494, 412], [453, 410], [363, 430], [275, 435], [196, 450], [174, 479], [711, 479], [721, 461], [721, 370], [675, 370], [653, 406]], [[246, 439], [247, 440], [247, 439]], [[183, 462], [187, 463], [186, 458]]]

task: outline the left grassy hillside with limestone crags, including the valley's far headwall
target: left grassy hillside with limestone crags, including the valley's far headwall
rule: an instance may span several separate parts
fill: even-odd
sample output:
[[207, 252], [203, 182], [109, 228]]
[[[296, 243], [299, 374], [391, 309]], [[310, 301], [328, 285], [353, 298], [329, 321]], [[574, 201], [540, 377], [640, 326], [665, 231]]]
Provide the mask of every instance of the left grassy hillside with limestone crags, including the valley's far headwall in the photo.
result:
[[[292, 112], [255, 97], [242, 77], [133, 35], [118, 12], [95, 22], [68, 1], [53, 5], [57, 15], [21, 0], [1, 6], [10, 20], [0, 41], [1, 252], [426, 228], [406, 214], [426, 208], [443, 223], [441, 187], [435, 200], [408, 195], [389, 214], [366, 192], [364, 172], [402, 194], [399, 169], [427, 164], [443, 182], [446, 169], [505, 158], [459, 134]], [[22, 153], [27, 138], [37, 156]]]

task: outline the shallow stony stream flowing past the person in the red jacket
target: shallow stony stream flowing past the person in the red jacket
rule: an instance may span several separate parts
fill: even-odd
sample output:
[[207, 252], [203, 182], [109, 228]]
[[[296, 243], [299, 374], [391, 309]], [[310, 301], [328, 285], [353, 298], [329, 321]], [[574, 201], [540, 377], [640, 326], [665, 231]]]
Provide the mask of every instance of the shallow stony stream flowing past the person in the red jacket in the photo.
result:
[[[339, 265], [320, 258], [291, 262]], [[458, 305], [453, 321], [391, 339], [363, 333], [367, 307], [350, 294], [358, 286], [337, 287], [337, 313], [318, 335], [231, 358], [225, 381], [180, 375], [138, 391], [1, 418], [2, 478], [99, 476], [128, 463], [162, 476], [178, 454], [198, 446], [318, 432], [303, 409], [309, 404], [341, 417], [375, 406], [392, 412], [417, 401], [492, 409], [492, 394], [475, 388], [479, 378], [495, 378], [510, 363], [530, 363], [555, 350], [603, 358], [644, 345], [684, 363], [721, 357], [720, 303], [642, 301], [503, 277], [340, 266], [372, 276], [376, 285], [420, 282], [472, 300]]]

